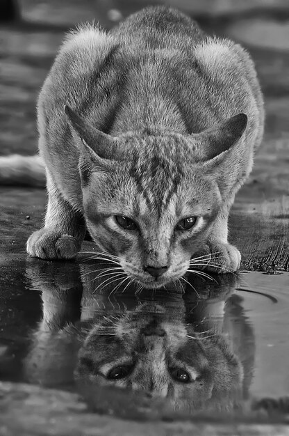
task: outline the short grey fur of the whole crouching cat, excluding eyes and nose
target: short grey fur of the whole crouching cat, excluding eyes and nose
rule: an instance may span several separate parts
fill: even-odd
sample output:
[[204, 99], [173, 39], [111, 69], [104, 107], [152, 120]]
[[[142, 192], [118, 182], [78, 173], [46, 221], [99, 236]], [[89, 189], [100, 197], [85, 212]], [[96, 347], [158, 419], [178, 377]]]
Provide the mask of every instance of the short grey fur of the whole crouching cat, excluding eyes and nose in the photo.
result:
[[[110, 33], [81, 27], [40, 93], [49, 201], [28, 253], [74, 258], [87, 226], [143, 286], [179, 279], [200, 253], [217, 252], [219, 272], [237, 270], [229, 209], [251, 171], [263, 118], [247, 52], [205, 36], [176, 10], [145, 8]], [[140, 231], [125, 231], [115, 215]], [[191, 216], [199, 219], [190, 231], [175, 231]], [[152, 277], [148, 266], [167, 271]]]

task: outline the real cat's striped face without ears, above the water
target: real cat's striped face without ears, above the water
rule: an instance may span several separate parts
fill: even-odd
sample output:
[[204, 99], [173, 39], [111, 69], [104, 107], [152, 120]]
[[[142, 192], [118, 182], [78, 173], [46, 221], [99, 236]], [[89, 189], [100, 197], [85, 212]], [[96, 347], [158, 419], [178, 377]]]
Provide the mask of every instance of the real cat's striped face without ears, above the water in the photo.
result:
[[[135, 152], [111, 169], [92, 171], [83, 205], [101, 249], [117, 256], [133, 280], [154, 288], [185, 274], [222, 201], [217, 184], [192, 169], [177, 138], [146, 142], [150, 153]], [[162, 274], [154, 277], [149, 267], [163, 268]]]

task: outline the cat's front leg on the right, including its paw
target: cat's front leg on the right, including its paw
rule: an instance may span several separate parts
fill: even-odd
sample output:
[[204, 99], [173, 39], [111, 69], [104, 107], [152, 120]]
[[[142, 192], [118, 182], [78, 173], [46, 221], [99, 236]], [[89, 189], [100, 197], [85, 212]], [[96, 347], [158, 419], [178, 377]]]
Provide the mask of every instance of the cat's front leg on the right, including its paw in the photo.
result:
[[[228, 206], [225, 206], [220, 210], [206, 244], [201, 251], [194, 254], [196, 267], [200, 263], [199, 267], [202, 270], [218, 273], [235, 272], [239, 269], [240, 251], [228, 242], [229, 209]], [[197, 259], [199, 256], [206, 257]]]

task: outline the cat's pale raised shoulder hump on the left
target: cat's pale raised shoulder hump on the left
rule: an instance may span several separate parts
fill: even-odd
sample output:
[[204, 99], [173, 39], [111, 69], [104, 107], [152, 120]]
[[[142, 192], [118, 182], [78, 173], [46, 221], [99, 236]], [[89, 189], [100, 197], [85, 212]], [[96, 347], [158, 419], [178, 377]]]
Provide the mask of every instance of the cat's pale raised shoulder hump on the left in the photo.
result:
[[118, 46], [113, 36], [93, 23], [82, 24], [70, 31], [42, 86], [38, 100], [39, 114], [42, 107], [46, 107], [46, 111], [50, 109], [51, 116], [54, 116], [58, 107], [61, 118], [64, 104], [73, 105], [87, 100], [92, 88], [89, 84], [95, 81], [101, 68], [112, 62]]

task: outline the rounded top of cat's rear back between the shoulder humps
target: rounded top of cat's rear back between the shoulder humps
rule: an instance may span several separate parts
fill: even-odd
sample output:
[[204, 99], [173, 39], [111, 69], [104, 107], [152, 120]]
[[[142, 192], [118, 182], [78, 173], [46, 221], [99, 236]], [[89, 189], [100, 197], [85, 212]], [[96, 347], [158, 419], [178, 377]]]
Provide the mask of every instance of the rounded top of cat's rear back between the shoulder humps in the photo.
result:
[[135, 49], [179, 49], [187, 52], [206, 38], [197, 22], [168, 6], [149, 6], [130, 15], [110, 32]]

